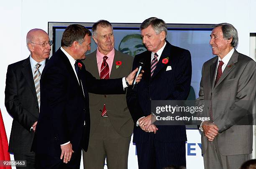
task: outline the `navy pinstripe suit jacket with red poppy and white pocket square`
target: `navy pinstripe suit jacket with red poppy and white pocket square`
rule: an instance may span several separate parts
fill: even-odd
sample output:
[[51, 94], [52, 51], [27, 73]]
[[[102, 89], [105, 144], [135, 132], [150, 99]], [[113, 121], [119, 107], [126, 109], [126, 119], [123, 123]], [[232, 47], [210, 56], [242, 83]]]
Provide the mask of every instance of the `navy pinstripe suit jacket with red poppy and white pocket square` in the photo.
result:
[[[169, 57], [167, 64], [162, 63]], [[171, 45], [166, 41], [166, 46], [156, 65], [151, 77], [151, 52], [145, 51], [135, 56], [133, 68], [138, 67], [138, 62], [144, 60], [145, 71], [141, 82], [128, 87], [127, 105], [136, 124], [142, 116], [151, 114], [151, 100], [186, 100], [189, 94], [191, 82], [191, 55], [188, 50]], [[166, 71], [167, 66], [172, 70]], [[157, 126], [154, 134], [158, 142], [186, 141], [185, 126]], [[148, 141], [152, 133], [143, 131], [140, 127], [134, 127], [133, 142], [143, 143]]]

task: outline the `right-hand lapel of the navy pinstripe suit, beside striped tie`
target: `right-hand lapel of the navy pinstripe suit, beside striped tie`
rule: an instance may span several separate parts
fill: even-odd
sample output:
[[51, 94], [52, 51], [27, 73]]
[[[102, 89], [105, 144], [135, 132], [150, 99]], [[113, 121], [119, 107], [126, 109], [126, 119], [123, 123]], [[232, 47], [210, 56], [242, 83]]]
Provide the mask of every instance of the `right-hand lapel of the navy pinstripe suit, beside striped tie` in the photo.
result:
[[162, 63], [162, 60], [164, 58], [169, 57], [169, 61], [172, 60], [172, 58], [171, 58], [172, 57], [171, 56], [171, 51], [172, 51], [171, 47], [172, 47], [171, 44], [166, 41], [166, 45], [164, 47], [164, 50], [163, 50], [163, 52], [162, 52], [162, 54], [159, 58], [158, 63], [156, 64], [156, 69], [154, 70], [154, 73], [153, 73], [151, 78], [154, 78], [156, 76], [156, 74], [159, 73], [159, 71], [165, 66], [165, 64]]

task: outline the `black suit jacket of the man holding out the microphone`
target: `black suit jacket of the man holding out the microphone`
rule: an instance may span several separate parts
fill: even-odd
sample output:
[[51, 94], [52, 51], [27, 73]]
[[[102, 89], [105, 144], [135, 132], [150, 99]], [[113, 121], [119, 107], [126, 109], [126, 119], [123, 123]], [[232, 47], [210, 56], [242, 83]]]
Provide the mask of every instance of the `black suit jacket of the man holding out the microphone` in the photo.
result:
[[[59, 49], [41, 75], [41, 107], [36, 126], [36, 153], [60, 156], [60, 145], [72, 144], [74, 151], [87, 151], [90, 135], [88, 92], [124, 93], [122, 79], [96, 80], [80, 62], [79, 86], [67, 56]], [[84, 125], [85, 122], [85, 125]]]

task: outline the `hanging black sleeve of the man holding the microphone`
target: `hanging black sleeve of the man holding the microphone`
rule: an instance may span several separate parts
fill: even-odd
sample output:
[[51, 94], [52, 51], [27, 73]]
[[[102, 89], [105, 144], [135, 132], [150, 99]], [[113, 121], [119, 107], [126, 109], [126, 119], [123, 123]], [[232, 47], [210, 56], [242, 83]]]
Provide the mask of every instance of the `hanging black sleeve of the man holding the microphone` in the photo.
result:
[[46, 97], [45, 100], [49, 103], [49, 108], [46, 110], [50, 110], [49, 112], [42, 111], [41, 115], [44, 113], [50, 117], [54, 135], [59, 138], [58, 144], [67, 143], [70, 141], [69, 134], [67, 133], [67, 112], [65, 108], [68, 102], [68, 97], [66, 96], [67, 76], [59, 67], [53, 66], [41, 77], [40, 85], [41, 98]]

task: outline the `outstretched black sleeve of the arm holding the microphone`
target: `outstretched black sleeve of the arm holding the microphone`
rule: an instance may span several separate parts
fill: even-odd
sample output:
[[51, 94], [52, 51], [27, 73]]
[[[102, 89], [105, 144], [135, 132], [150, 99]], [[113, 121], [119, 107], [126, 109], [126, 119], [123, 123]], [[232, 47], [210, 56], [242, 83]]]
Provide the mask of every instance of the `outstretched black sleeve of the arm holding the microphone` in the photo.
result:
[[82, 69], [82, 71], [84, 71], [85, 83], [89, 93], [125, 94], [125, 91], [123, 90], [122, 78], [96, 79], [85, 68]]

